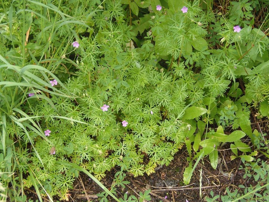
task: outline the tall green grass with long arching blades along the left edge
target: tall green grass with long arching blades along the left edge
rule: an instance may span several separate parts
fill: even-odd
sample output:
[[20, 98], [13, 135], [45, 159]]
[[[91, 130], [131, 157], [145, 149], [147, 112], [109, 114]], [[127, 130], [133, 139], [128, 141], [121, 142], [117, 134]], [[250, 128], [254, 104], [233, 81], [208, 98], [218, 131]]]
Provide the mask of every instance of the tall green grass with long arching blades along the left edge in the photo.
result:
[[[66, 98], [76, 98], [66, 89], [53, 72], [59, 69], [60, 65], [68, 64], [68, 68], [77, 66], [77, 64], [66, 58], [61, 57], [66, 54], [74, 37], [78, 39], [77, 32], [73, 29], [74, 25], [90, 28], [81, 18], [80, 14], [72, 17], [61, 11], [62, 1], [54, 1], [54, 4], [47, 4], [46, 1], [23, 0], [20, 5], [19, 1], [1, 0], [0, 4], [0, 30], [4, 33], [0, 41], [0, 201], [25, 201], [25, 191], [23, 189], [23, 172], [18, 167], [18, 159], [15, 155], [15, 144], [18, 143], [19, 137], [16, 133], [10, 134], [7, 131], [7, 124], [14, 128], [24, 131], [30, 142], [30, 147], [43, 164], [39, 156], [29, 131], [33, 131], [41, 138], [49, 139], [44, 135], [44, 131], [39, 123], [34, 121], [36, 116], [29, 116], [22, 110], [27, 106], [32, 109], [30, 99], [41, 101], [45, 99], [54, 108], [56, 107], [50, 100], [49, 95], [63, 96]], [[29, 4], [35, 9], [29, 9]], [[89, 12], [91, 16], [94, 12]], [[51, 19], [50, 12], [54, 12], [54, 19]], [[39, 19], [39, 25], [33, 23], [33, 18]], [[65, 26], [65, 25], [72, 26]], [[35, 41], [30, 41], [31, 31], [36, 31], [39, 26], [40, 33], [36, 34]], [[58, 37], [58, 31], [65, 26], [66, 34], [60, 45], [54, 46], [54, 38]], [[18, 31], [19, 30], [19, 31]], [[49, 36], [47, 35], [49, 33]], [[33, 36], [32, 36], [33, 37]], [[42, 65], [42, 66], [41, 66]], [[64, 65], [66, 68], [67, 66]], [[67, 71], [68, 71], [67, 68]], [[51, 86], [50, 79], [56, 79], [58, 86]], [[63, 90], [65, 92], [63, 92]], [[34, 96], [28, 97], [28, 93], [34, 93]], [[59, 116], [61, 119], [70, 119]], [[71, 119], [70, 119], [71, 120]], [[72, 119], [72, 121], [77, 121]], [[80, 121], [82, 122], [82, 121]], [[82, 122], [83, 123], [83, 122]], [[88, 171], [75, 164], [69, 164], [70, 167], [76, 167], [78, 170], [85, 172], [94, 181], [97, 182], [108, 194], [116, 201], [117, 198], [103, 186]], [[33, 179], [36, 194], [42, 201], [38, 186], [46, 192], [41, 183], [36, 184], [36, 175], [30, 168], [28, 169], [30, 177]], [[38, 181], [38, 180], [37, 180]], [[39, 182], [39, 181], [38, 181]], [[53, 201], [48, 195], [50, 201]]]

